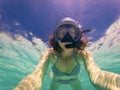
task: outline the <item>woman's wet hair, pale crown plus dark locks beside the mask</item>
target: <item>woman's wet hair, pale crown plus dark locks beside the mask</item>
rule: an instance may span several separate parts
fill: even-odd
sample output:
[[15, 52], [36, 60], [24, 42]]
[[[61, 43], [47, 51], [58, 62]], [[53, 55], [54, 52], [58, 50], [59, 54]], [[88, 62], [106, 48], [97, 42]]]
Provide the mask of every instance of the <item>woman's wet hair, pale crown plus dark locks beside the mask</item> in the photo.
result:
[[[63, 26], [66, 28], [70, 28], [71, 26], [74, 26], [76, 27], [76, 29], [79, 29], [81, 31], [82, 34], [80, 38], [78, 38], [77, 41], [73, 42], [73, 44], [78, 50], [84, 49], [87, 46], [88, 40], [84, 35], [85, 31], [84, 32], [82, 31], [81, 25], [79, 24], [78, 21], [75, 21], [70, 17], [66, 17], [60, 21], [56, 29]], [[63, 49], [60, 47], [58, 43], [58, 40], [56, 40], [55, 38], [55, 32], [50, 36], [49, 44], [53, 47], [55, 52], [61, 53], [63, 51]]]

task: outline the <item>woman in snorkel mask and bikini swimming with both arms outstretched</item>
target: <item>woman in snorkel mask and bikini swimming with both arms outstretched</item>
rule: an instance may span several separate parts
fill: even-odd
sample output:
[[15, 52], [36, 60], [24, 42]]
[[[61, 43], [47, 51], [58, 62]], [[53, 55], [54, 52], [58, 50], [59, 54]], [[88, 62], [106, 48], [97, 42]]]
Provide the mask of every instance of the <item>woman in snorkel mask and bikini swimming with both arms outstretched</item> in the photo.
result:
[[25, 77], [14, 90], [41, 90], [49, 65], [52, 65], [50, 90], [58, 90], [61, 84], [69, 84], [73, 90], [82, 90], [80, 63], [84, 62], [93, 85], [104, 89], [120, 90], [120, 75], [101, 70], [92, 54], [85, 50], [88, 41], [75, 20], [64, 18], [56, 27], [50, 44], [34, 72]]

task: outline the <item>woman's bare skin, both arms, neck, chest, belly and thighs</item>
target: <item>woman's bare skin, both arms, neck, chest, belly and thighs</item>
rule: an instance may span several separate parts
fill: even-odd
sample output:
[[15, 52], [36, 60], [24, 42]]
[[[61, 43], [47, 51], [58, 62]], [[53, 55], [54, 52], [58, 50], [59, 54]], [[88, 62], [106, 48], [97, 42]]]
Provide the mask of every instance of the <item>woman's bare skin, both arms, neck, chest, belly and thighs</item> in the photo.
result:
[[[88, 75], [94, 86], [97, 86], [97, 90], [120, 90], [120, 75], [108, 71], [101, 70], [95, 63], [92, 54], [86, 50], [77, 49], [67, 49], [64, 47], [66, 43], [59, 43], [63, 48], [63, 52], [56, 63], [56, 67], [65, 73], [71, 73], [73, 68], [76, 66], [75, 60], [73, 60], [73, 51], [77, 55], [78, 62], [83, 60]], [[42, 82], [44, 76], [46, 75], [49, 64], [54, 64], [56, 61], [56, 53], [53, 49], [49, 49], [44, 53], [42, 59], [40, 60], [38, 66], [33, 71], [33, 73], [26, 76], [14, 90], [41, 90]], [[56, 76], [53, 74], [50, 90], [58, 90], [61, 83], [57, 80], [69, 80], [75, 79], [73, 82], [69, 83], [73, 90], [82, 90], [81, 83], [78, 76]]]

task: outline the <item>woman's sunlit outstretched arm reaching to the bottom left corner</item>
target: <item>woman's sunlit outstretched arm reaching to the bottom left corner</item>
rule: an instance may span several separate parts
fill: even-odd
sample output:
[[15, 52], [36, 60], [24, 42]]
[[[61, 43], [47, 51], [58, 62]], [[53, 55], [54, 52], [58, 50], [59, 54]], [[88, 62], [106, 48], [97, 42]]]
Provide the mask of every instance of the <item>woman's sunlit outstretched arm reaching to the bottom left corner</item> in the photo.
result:
[[49, 65], [49, 53], [49, 50], [44, 53], [33, 73], [26, 76], [14, 90], [41, 90], [40, 88]]

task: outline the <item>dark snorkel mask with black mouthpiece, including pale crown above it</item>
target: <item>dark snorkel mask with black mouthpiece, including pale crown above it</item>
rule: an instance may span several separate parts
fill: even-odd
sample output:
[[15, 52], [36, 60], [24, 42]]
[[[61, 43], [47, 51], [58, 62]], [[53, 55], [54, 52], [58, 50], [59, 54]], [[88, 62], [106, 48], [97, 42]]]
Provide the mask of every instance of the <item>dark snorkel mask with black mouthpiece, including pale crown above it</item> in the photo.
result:
[[82, 37], [81, 26], [75, 20], [67, 17], [57, 26], [54, 37], [56, 41], [72, 42], [65, 45], [66, 48], [75, 48]]

